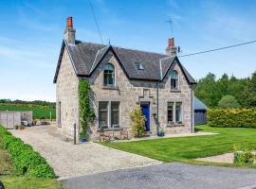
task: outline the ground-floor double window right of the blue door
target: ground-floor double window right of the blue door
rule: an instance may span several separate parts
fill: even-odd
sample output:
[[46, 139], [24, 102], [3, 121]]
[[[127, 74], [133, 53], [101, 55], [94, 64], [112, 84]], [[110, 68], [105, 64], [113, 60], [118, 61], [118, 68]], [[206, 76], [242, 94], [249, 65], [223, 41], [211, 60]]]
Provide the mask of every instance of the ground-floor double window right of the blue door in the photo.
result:
[[183, 110], [182, 102], [168, 102], [167, 103], [167, 124], [182, 124]]

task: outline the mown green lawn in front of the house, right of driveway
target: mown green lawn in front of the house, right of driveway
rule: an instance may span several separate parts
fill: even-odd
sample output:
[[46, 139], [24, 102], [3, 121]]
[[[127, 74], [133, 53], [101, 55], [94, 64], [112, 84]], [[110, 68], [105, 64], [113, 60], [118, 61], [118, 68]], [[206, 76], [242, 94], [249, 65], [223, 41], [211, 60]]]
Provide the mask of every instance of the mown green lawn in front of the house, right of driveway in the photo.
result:
[[165, 138], [127, 143], [102, 143], [123, 151], [136, 153], [163, 162], [188, 162], [192, 159], [219, 155], [233, 151], [234, 144], [245, 142], [251, 149], [256, 148], [256, 129], [197, 127], [219, 134]]

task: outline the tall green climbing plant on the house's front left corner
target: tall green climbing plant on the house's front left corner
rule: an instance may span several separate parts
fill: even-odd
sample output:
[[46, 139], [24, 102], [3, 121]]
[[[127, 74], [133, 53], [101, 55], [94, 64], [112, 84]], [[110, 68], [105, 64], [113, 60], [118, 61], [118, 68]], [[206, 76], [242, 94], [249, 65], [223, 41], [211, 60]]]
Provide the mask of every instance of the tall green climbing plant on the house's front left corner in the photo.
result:
[[81, 138], [87, 137], [87, 129], [91, 122], [95, 119], [94, 110], [90, 106], [90, 84], [86, 79], [81, 79], [79, 83], [79, 107], [80, 107], [80, 132]]

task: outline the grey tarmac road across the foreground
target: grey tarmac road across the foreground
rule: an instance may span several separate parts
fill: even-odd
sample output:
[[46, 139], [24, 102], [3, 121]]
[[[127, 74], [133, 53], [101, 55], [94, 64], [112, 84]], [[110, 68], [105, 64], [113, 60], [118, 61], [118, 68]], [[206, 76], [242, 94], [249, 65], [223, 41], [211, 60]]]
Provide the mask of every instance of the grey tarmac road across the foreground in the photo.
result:
[[63, 180], [71, 189], [256, 188], [256, 170], [164, 163]]

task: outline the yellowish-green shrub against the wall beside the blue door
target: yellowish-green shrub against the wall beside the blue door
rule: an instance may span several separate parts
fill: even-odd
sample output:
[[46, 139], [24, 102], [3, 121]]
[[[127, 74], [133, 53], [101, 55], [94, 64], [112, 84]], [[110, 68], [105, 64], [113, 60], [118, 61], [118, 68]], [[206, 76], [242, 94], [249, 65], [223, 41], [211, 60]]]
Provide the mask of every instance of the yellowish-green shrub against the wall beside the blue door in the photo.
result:
[[132, 130], [133, 130], [134, 136], [136, 137], [144, 136], [146, 117], [145, 115], [143, 115], [140, 107], [135, 108], [131, 112], [130, 118], [132, 121]]

